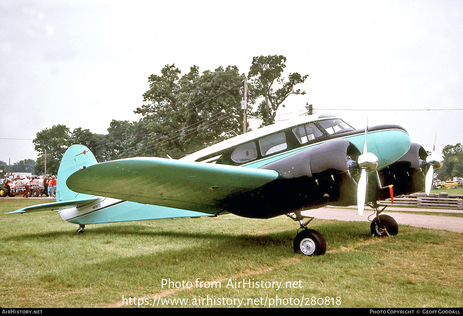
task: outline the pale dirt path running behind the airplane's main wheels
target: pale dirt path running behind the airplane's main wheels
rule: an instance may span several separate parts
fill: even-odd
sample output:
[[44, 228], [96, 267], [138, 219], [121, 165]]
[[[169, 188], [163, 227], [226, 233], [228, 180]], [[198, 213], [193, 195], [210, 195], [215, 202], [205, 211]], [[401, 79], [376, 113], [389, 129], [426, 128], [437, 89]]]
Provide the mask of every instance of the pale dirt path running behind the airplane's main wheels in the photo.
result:
[[[461, 210], [439, 210], [427, 208], [391, 208], [394, 211], [403, 213], [388, 212], [386, 209], [382, 214], [388, 214], [399, 224], [412, 225], [417, 227], [434, 228], [447, 231], [463, 232], [463, 218], [439, 215], [421, 215], [412, 212], [441, 212], [441, 213], [463, 213]], [[407, 213], [408, 212], [408, 213]], [[302, 214], [313, 216], [316, 219], [338, 219], [347, 221], [369, 221], [368, 216], [372, 214], [370, 209], [365, 208], [363, 217], [357, 214], [356, 207], [323, 207], [316, 210], [304, 211]], [[372, 219], [372, 217], [370, 217]]]

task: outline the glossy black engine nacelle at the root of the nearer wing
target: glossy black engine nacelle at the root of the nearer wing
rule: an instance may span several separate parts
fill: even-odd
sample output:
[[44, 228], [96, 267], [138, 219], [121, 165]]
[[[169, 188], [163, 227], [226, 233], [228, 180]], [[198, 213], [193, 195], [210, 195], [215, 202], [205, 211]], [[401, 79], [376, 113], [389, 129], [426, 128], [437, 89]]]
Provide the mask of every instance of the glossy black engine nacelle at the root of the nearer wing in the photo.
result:
[[356, 203], [357, 147], [348, 140], [331, 140], [263, 165], [279, 178], [261, 188], [224, 201], [225, 209], [250, 218], [271, 218], [301, 208]]

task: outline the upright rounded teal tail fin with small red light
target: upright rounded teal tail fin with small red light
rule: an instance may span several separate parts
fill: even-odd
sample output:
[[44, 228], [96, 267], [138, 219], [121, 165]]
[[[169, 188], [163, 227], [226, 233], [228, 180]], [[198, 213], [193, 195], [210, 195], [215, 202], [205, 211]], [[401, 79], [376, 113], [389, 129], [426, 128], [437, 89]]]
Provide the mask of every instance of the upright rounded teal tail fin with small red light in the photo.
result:
[[56, 201], [88, 199], [94, 195], [77, 193], [66, 185], [66, 180], [82, 166], [97, 164], [93, 152], [83, 145], [72, 145], [64, 153], [58, 169], [56, 181]]

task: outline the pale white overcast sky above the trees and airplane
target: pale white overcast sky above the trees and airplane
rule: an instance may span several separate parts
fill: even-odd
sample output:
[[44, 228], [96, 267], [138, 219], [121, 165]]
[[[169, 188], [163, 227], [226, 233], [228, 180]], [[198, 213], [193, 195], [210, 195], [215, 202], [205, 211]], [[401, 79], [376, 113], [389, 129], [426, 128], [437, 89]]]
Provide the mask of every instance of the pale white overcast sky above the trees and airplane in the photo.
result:
[[[56, 124], [106, 134], [138, 121], [148, 76], [284, 55], [309, 74], [305, 104], [355, 128], [398, 124], [437, 150], [463, 143], [463, 3], [460, 1], [0, 1], [0, 160], [37, 158], [31, 140]], [[245, 5], [244, 5], [245, 4]], [[282, 115], [280, 119], [292, 115]]]

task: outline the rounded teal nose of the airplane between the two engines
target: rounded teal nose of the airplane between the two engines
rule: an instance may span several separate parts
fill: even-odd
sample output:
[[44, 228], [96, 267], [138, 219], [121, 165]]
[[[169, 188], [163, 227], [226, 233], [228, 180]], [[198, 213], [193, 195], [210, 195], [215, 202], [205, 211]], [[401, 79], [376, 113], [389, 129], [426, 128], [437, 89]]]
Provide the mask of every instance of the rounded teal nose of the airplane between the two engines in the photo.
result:
[[384, 164], [392, 164], [408, 152], [410, 135], [401, 128], [383, 130], [375, 135], [376, 149], [379, 160]]

